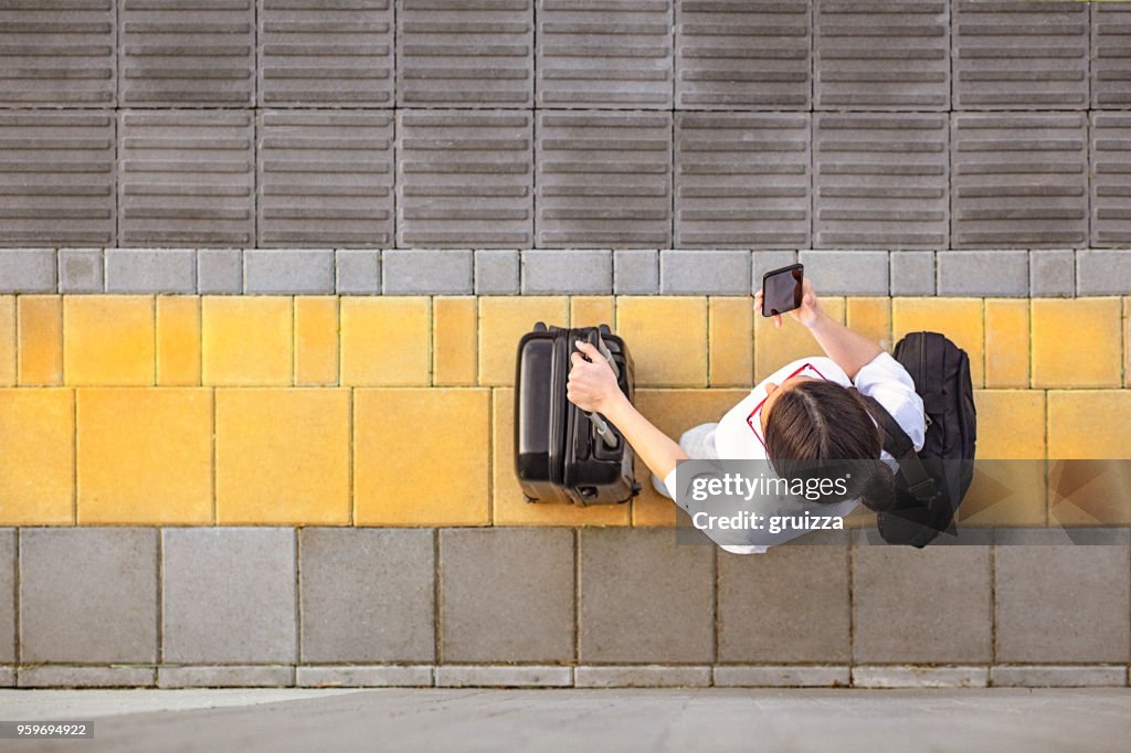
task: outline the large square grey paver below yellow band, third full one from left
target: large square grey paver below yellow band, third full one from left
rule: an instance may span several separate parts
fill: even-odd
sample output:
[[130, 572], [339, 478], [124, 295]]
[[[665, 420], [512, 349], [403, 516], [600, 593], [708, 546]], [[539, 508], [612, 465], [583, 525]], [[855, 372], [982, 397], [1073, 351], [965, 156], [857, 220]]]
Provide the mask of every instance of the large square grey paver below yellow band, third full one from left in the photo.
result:
[[435, 660], [431, 530], [308, 527], [299, 562], [302, 661]]

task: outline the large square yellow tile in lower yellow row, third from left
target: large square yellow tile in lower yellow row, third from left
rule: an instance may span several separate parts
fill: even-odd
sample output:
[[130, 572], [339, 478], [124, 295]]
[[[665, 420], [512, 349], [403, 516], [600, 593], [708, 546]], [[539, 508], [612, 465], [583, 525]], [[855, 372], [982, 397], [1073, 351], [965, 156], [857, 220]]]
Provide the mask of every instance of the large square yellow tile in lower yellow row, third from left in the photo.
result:
[[216, 391], [216, 522], [349, 523], [349, 390]]

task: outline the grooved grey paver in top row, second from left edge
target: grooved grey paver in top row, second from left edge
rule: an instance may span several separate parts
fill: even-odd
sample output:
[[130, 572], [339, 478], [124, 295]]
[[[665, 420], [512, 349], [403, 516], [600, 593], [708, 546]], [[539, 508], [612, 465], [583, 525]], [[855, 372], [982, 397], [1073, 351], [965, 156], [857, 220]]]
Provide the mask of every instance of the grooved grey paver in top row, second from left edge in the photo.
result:
[[254, 104], [252, 0], [119, 0], [123, 106]]

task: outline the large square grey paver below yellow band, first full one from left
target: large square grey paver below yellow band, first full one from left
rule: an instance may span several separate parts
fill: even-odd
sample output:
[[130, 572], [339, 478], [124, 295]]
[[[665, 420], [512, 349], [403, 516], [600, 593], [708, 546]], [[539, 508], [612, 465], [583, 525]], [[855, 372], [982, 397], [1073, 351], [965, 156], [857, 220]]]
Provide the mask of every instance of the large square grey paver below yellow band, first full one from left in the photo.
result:
[[20, 660], [157, 660], [157, 531], [24, 528]]

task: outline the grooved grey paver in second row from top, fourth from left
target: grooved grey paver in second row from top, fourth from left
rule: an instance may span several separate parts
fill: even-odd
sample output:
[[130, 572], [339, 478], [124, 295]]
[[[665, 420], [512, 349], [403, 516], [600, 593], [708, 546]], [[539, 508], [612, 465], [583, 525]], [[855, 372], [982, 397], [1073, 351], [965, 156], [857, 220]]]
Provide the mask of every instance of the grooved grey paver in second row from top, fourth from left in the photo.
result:
[[529, 248], [533, 126], [530, 111], [398, 111], [398, 244]]

